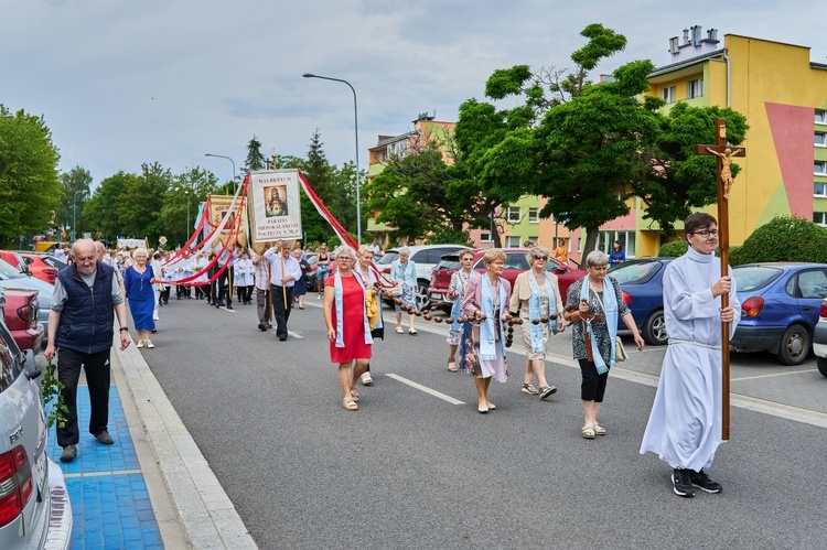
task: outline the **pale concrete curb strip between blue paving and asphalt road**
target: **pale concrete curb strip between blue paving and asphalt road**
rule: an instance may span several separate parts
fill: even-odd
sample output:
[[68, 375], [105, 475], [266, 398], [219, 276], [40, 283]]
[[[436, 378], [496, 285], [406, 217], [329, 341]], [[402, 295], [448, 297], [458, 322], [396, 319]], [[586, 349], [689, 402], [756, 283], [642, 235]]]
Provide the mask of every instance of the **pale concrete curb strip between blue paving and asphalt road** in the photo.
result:
[[[122, 352], [116, 346], [112, 359], [114, 366], [120, 366], [114, 369], [116, 378], [122, 373], [140, 420], [140, 427], [130, 425], [136, 450], [142, 440], [138, 431], [141, 428], [150, 450], [150, 453], [139, 452], [138, 459], [164, 547], [181, 548], [185, 543], [194, 549], [257, 549], [233, 502], [141, 353], [135, 345]], [[173, 509], [165, 506], [160, 489], [168, 493]]]

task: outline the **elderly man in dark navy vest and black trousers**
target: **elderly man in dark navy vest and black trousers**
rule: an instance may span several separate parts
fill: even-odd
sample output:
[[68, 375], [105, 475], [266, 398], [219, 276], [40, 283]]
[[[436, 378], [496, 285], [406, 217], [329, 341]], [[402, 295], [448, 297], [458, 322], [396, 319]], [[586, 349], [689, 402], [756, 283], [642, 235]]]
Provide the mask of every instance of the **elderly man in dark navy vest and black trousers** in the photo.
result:
[[97, 261], [95, 242], [79, 239], [72, 247], [73, 263], [57, 273], [52, 309], [49, 312], [49, 343], [44, 355], [52, 360], [57, 354], [57, 378], [68, 408], [63, 428], [57, 427], [57, 444], [63, 447], [61, 462], [77, 455], [80, 440], [77, 427], [77, 382], [80, 366], [89, 387], [89, 433], [111, 445], [109, 435], [109, 352], [112, 347], [112, 310], [120, 327], [120, 348], [131, 342], [127, 328], [127, 308], [115, 269]]

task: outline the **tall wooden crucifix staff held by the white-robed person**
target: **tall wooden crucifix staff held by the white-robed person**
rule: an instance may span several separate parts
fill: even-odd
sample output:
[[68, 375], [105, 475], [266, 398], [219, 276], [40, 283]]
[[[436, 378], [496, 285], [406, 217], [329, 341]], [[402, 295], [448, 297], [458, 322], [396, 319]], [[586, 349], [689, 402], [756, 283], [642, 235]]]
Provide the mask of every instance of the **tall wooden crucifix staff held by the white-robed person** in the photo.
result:
[[[695, 145], [697, 154], [713, 154], [718, 158], [718, 246], [721, 249], [721, 277], [729, 276], [729, 192], [732, 188], [732, 157], [747, 157], [743, 148], [727, 144], [727, 121], [715, 120], [715, 145]], [[729, 294], [721, 295], [721, 308], [729, 305]], [[721, 439], [729, 440], [729, 323], [721, 323]]]

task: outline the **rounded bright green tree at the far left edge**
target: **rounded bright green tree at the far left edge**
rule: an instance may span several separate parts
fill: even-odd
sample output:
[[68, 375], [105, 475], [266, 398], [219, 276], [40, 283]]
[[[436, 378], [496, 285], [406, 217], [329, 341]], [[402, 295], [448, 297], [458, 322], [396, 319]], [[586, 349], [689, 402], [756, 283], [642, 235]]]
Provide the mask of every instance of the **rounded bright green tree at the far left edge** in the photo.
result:
[[0, 104], [0, 240], [13, 241], [52, 226], [63, 199], [60, 153], [42, 117]]

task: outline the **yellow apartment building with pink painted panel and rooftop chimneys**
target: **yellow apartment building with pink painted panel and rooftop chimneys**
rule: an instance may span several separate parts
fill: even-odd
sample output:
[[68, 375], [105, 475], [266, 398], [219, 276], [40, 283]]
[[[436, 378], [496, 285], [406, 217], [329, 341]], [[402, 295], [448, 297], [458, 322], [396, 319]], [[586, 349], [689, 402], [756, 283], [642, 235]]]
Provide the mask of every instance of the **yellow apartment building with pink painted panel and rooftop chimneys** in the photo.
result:
[[[730, 195], [730, 242], [740, 245], [777, 215], [827, 224], [827, 65], [809, 47], [700, 26], [669, 40], [672, 63], [648, 77], [651, 95], [692, 106], [731, 107], [747, 117], [745, 158]], [[810, 170], [810, 166], [814, 166]], [[716, 206], [709, 208], [716, 214]], [[637, 255], [654, 255], [663, 236], [636, 211]]]

